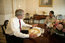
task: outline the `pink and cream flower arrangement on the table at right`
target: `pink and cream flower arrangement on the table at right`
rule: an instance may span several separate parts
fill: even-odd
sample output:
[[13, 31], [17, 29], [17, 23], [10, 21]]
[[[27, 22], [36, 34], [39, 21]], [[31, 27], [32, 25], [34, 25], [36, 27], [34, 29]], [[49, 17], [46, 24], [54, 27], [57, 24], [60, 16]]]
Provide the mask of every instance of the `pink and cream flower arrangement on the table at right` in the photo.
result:
[[62, 20], [53, 20], [51, 23], [47, 24], [47, 30], [53, 34], [58, 34], [61, 36], [65, 36], [65, 19]]

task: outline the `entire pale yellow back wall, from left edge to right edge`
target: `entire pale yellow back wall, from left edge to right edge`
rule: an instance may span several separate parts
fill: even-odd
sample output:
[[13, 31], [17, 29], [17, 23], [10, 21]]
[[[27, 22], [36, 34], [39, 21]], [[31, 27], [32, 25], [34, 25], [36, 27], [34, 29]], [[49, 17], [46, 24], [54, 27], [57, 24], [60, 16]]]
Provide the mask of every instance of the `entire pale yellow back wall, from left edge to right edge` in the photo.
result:
[[50, 10], [53, 10], [55, 15], [65, 15], [65, 0], [53, 0], [53, 7], [39, 7], [39, 0], [0, 0], [0, 24], [14, 17], [16, 9], [23, 9], [25, 13], [30, 13], [30, 16], [35, 13], [41, 15], [43, 11], [48, 15]]

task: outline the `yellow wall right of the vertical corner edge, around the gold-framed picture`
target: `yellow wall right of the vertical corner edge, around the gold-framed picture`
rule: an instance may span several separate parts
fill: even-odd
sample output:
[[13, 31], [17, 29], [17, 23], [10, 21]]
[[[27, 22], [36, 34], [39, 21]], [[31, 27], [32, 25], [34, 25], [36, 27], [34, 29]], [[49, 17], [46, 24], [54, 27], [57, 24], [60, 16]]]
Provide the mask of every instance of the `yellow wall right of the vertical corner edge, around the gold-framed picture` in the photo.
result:
[[53, 0], [53, 7], [39, 7], [39, 0], [13, 0], [14, 14], [12, 16], [15, 16], [16, 9], [23, 9], [25, 13], [30, 13], [30, 16], [33, 16], [35, 13], [41, 15], [43, 11], [48, 15], [51, 10], [55, 12], [55, 15], [64, 15], [65, 1]]

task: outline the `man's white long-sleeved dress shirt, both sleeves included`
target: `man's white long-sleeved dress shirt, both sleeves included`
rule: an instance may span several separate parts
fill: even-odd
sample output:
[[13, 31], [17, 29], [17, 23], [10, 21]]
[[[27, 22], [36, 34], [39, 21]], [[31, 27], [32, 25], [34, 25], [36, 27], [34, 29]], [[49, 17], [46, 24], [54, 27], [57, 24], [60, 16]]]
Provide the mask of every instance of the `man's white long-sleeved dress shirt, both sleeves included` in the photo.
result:
[[[21, 27], [22, 26], [32, 27], [32, 25], [25, 24], [23, 19], [20, 19], [20, 21], [21, 21]], [[20, 27], [19, 19], [17, 17], [14, 17], [11, 20], [9, 20], [5, 33], [9, 34], [9, 35], [14, 35], [14, 36], [20, 37], [20, 38], [29, 38], [29, 34], [21, 33], [19, 27]]]

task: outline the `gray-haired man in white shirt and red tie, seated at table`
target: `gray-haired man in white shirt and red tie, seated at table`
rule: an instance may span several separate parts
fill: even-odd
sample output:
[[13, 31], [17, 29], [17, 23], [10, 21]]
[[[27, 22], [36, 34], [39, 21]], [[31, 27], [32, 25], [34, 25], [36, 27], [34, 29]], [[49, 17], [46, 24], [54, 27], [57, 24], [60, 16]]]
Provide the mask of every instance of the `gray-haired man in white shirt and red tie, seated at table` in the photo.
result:
[[[29, 26], [29, 27], [34, 27], [34, 26], [37, 26], [37, 24], [35, 25], [28, 25], [28, 24], [25, 24], [23, 22], [23, 15], [24, 15], [24, 11], [21, 10], [21, 9], [18, 9], [15, 11], [15, 16], [14, 18], [12, 18], [11, 20], [9, 20], [9, 23], [8, 23], [8, 26], [7, 26], [7, 29], [5, 30], [5, 33], [6, 33], [6, 37], [8, 36], [12, 36], [13, 38], [15, 37], [15, 41], [18, 41], [22, 38], [32, 38], [32, 37], [36, 37], [36, 35], [34, 34], [23, 34], [21, 32], [22, 30], [22, 26]], [[8, 38], [7, 37], [7, 38]], [[11, 37], [9, 37], [11, 39]], [[9, 38], [7, 40], [9, 40]], [[18, 40], [17, 40], [18, 39]], [[13, 40], [13, 39], [11, 39]], [[9, 43], [10, 41], [9, 40]], [[11, 41], [12, 42], [12, 41]], [[14, 41], [13, 41], [14, 42]], [[12, 42], [12, 43], [13, 43]], [[18, 43], [22, 43], [22, 41], [20, 40]]]

